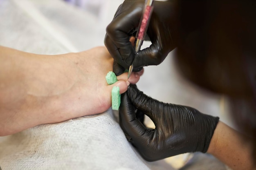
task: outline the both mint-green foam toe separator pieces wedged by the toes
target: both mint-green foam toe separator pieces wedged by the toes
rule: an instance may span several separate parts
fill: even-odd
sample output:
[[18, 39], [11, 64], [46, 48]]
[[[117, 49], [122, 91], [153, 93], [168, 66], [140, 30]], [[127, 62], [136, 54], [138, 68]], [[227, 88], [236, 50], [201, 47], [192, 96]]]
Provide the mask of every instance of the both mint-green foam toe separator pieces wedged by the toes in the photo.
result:
[[[114, 72], [110, 71], [106, 75], [106, 80], [108, 84], [114, 84], [115, 82], [117, 82], [117, 76], [115, 75]], [[121, 95], [120, 95], [119, 87], [114, 86], [112, 88], [111, 96], [112, 96], [112, 109], [118, 110], [121, 103]]]

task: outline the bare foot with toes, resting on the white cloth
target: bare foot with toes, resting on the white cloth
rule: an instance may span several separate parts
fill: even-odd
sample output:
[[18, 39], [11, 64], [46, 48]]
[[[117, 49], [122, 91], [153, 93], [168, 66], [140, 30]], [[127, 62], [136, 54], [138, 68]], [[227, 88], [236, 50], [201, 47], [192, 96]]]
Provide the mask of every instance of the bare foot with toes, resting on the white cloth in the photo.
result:
[[124, 93], [143, 71], [108, 85], [113, 59], [105, 47], [80, 53], [37, 55], [0, 46], [0, 136], [39, 125], [102, 113], [111, 90]]

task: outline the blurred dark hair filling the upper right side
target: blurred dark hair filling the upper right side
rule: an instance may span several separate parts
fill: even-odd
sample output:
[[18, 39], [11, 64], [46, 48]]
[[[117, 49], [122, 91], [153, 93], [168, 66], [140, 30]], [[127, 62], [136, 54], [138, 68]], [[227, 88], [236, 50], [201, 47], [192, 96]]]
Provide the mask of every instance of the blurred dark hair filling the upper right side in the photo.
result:
[[191, 82], [230, 97], [256, 159], [256, 1], [177, 0], [175, 57]]

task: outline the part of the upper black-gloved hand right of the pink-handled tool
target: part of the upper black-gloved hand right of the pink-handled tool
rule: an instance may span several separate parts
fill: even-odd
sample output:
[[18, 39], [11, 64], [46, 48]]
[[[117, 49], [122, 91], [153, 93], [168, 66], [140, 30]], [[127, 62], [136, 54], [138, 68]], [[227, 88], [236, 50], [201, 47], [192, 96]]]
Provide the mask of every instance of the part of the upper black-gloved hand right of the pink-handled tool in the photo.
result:
[[147, 36], [152, 44], [135, 55], [135, 67], [158, 65], [168, 53], [175, 48], [176, 26], [173, 22], [173, 4], [155, 1], [154, 10], [149, 22]]

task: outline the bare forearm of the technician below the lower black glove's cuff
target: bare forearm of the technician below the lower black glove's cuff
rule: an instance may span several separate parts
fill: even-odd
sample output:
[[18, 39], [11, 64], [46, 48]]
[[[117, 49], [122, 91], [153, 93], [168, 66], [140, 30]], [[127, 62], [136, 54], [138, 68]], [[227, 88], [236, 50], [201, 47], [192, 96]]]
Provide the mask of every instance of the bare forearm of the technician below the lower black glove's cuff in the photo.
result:
[[219, 122], [207, 150], [232, 170], [255, 170], [251, 157], [252, 146], [249, 139], [230, 128], [223, 122]]

